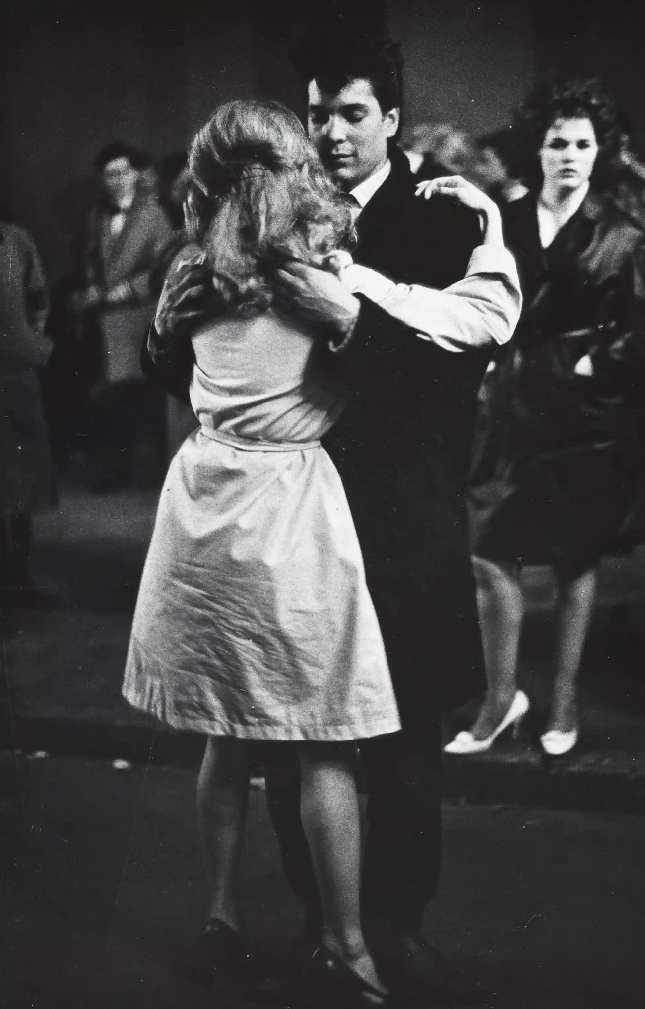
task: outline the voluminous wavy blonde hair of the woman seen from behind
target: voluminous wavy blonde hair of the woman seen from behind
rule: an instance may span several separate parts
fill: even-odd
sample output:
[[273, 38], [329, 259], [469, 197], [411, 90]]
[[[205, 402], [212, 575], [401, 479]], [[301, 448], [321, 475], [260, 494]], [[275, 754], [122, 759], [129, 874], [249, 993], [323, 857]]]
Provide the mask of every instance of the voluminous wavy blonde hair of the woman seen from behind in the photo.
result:
[[351, 209], [298, 117], [278, 102], [220, 105], [197, 133], [185, 205], [222, 310], [264, 311], [288, 259], [320, 262], [353, 240]]

